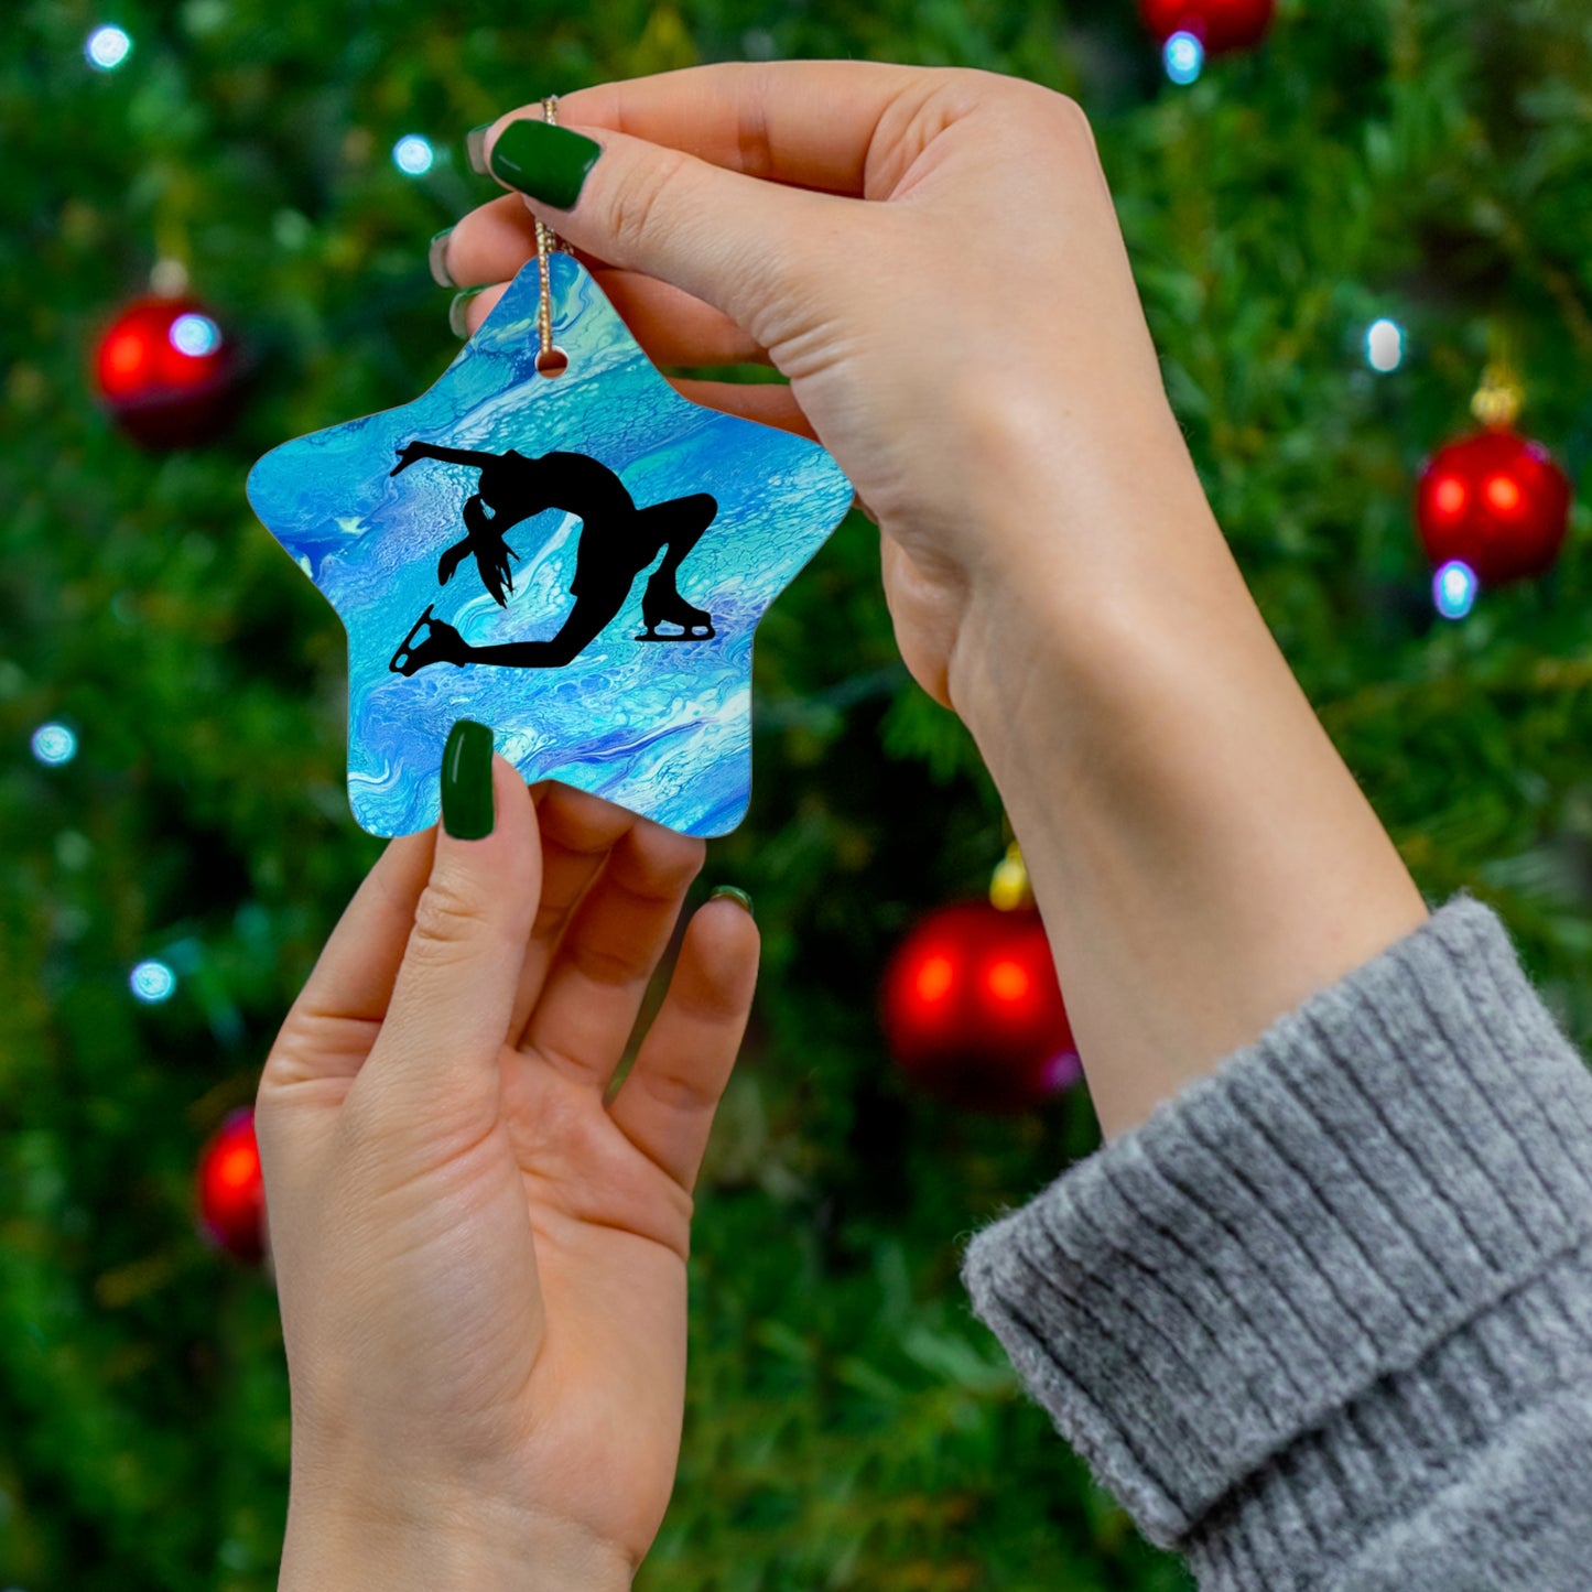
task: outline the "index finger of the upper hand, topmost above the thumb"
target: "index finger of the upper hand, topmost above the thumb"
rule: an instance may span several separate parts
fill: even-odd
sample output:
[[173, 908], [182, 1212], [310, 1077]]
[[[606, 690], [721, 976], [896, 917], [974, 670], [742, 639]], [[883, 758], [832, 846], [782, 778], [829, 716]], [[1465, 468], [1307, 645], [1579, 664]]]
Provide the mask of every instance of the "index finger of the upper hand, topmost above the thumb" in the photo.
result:
[[[796, 188], [874, 197], [887, 123], [911, 115], [941, 73], [874, 60], [728, 60], [559, 96], [559, 121], [608, 127], [712, 166]], [[532, 107], [527, 107], [530, 110]], [[492, 127], [487, 142], [514, 116]]]

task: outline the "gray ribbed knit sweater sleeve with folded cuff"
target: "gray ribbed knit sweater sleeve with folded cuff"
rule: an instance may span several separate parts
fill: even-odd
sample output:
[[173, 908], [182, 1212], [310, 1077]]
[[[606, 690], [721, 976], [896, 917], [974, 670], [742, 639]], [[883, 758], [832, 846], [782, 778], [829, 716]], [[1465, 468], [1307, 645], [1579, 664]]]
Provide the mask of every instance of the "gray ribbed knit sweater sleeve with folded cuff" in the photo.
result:
[[1592, 1589], [1592, 1073], [1468, 896], [962, 1275], [1204, 1592]]

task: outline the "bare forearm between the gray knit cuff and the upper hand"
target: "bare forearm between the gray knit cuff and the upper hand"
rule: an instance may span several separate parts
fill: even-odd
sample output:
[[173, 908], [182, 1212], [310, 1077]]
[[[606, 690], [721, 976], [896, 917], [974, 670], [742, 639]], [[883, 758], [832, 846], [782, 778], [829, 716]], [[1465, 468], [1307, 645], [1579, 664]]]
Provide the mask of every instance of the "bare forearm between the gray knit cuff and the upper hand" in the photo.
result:
[[[1006, 476], [1011, 564], [974, 583], [950, 675], [1108, 1137], [1426, 915], [1173, 438], [1065, 492]], [[1087, 533], [1036, 535], [1057, 503]]]

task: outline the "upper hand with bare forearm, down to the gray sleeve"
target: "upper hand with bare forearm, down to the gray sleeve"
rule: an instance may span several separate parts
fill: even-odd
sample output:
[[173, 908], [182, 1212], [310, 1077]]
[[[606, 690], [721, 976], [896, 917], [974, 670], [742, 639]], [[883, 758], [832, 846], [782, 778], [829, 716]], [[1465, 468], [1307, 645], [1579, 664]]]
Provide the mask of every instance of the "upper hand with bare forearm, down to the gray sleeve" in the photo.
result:
[[[1425, 917], [1205, 501], [1076, 105], [782, 62], [559, 121], [602, 154], [537, 213], [646, 352], [771, 360], [788, 388], [677, 385], [815, 433], [879, 522], [901, 656], [1022, 839], [1106, 1134]], [[517, 272], [529, 204], [460, 221], [455, 282]]]

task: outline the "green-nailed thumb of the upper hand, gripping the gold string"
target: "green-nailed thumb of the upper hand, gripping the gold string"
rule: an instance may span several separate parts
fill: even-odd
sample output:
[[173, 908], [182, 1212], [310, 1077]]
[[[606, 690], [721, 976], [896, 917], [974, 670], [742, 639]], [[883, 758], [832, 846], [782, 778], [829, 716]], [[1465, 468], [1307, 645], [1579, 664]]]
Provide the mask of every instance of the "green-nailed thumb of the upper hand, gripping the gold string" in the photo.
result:
[[[565, 242], [594, 259], [685, 290], [763, 347], [821, 269], [844, 199], [724, 170], [608, 127], [514, 118], [486, 137], [486, 166]], [[581, 172], [584, 169], [584, 180]], [[562, 209], [562, 207], [568, 209]]]

